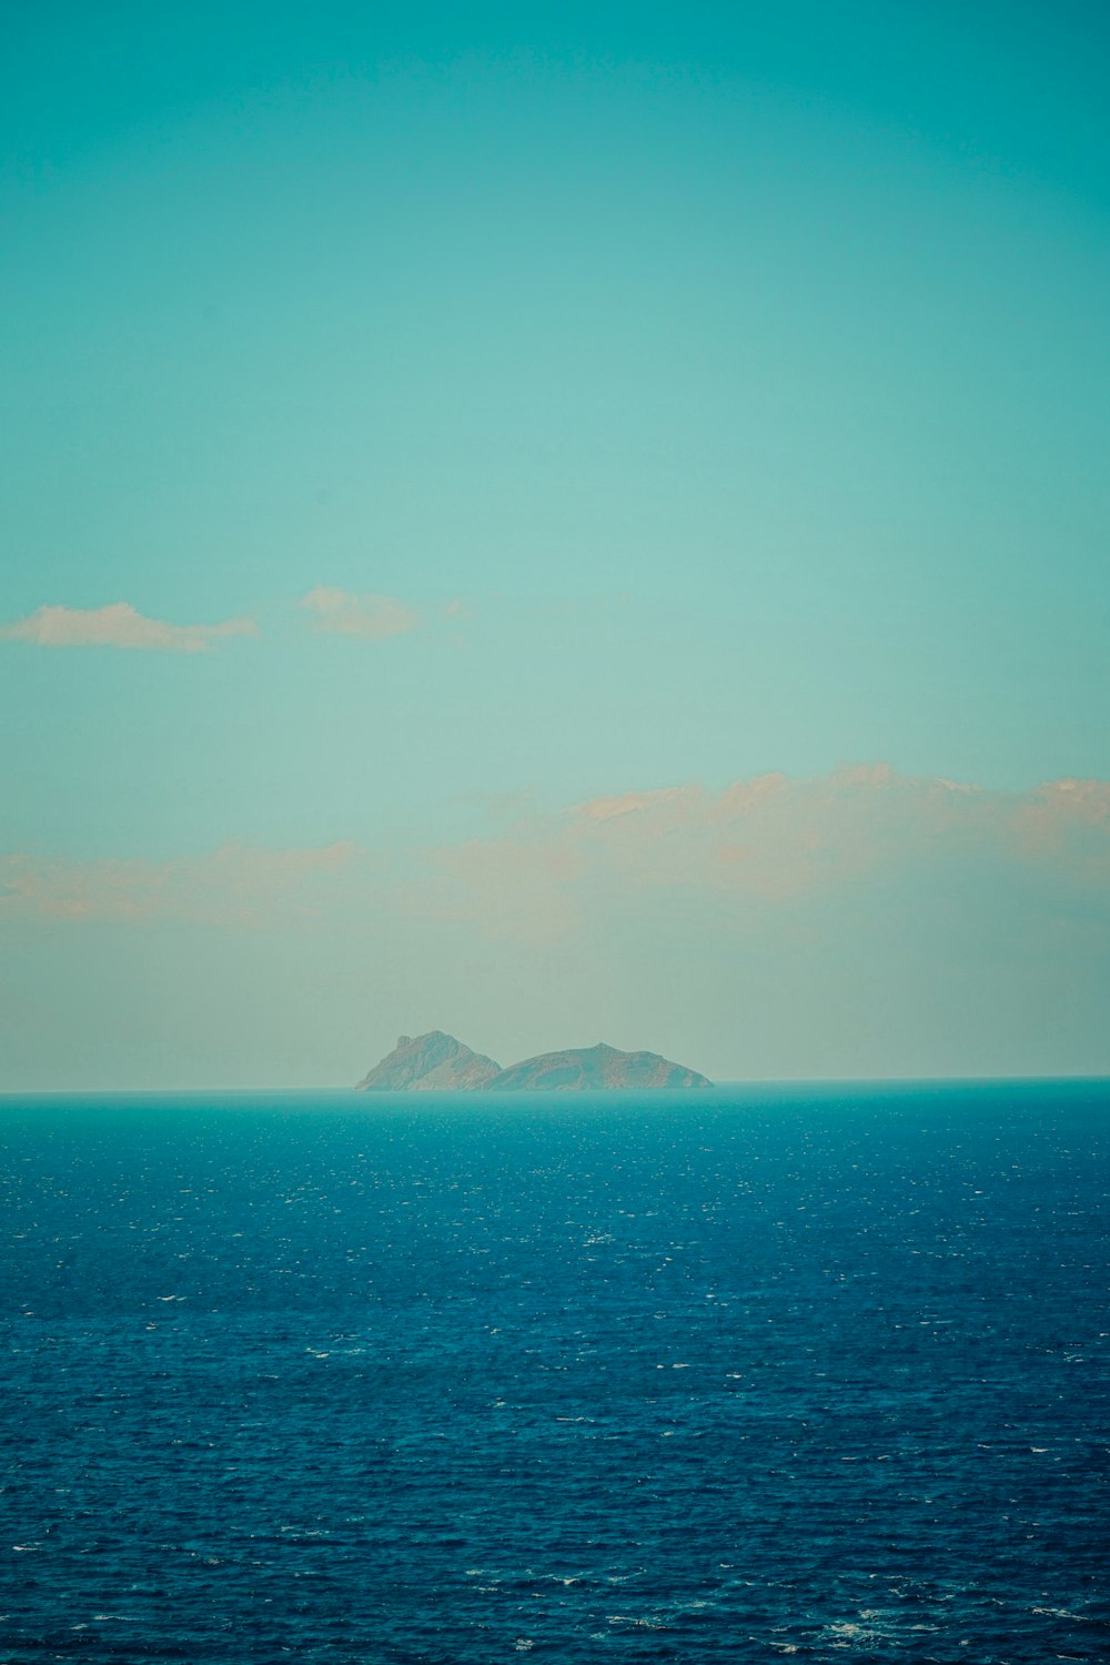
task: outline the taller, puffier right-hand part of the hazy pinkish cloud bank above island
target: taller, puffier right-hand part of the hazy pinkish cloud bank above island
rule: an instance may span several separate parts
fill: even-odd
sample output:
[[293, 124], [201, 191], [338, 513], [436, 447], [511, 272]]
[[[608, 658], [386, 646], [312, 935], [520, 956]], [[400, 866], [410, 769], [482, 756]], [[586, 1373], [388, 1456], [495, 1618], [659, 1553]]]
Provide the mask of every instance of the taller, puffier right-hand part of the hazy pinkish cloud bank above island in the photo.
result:
[[594, 798], [428, 856], [444, 917], [518, 937], [574, 932], [614, 911], [706, 904], [719, 922], [805, 896], [880, 892], [982, 864], [1110, 896], [1110, 783], [992, 793], [885, 764]]

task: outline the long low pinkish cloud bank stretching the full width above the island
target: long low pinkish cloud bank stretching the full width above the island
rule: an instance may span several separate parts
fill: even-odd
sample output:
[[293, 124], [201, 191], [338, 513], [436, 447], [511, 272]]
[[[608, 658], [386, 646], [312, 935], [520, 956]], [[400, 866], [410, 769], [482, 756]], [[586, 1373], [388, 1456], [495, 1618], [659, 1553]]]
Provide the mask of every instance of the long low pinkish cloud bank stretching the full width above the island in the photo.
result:
[[[1110, 904], [1110, 783], [1053, 781], [995, 793], [900, 776], [884, 764], [810, 781], [764, 774], [719, 793], [699, 786], [594, 798], [559, 813], [509, 801], [503, 831], [419, 851], [371, 854], [226, 844], [170, 862], [0, 857], [0, 909], [72, 919], [226, 922], [283, 901], [306, 877], [348, 882], [373, 907], [469, 922], [491, 937], [546, 942], [652, 909], [709, 911], [714, 931], [797, 912], [810, 897], [889, 897], [929, 874], [1007, 874]], [[368, 872], [378, 874], [368, 884]], [[386, 886], [383, 874], [393, 874]], [[213, 906], [218, 897], [220, 906]], [[226, 917], [221, 907], [231, 901]]]

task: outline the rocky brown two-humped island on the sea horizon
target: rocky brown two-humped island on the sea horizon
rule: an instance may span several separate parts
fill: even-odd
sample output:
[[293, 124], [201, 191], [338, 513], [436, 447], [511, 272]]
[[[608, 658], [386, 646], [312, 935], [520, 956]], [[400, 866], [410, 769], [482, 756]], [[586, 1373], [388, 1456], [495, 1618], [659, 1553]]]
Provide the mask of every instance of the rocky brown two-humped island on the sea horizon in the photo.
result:
[[657, 1052], [619, 1052], [614, 1046], [541, 1052], [501, 1069], [484, 1052], [433, 1029], [399, 1036], [381, 1064], [358, 1084], [359, 1092], [523, 1092], [543, 1087], [561, 1092], [609, 1087], [709, 1087], [707, 1076], [672, 1064]]

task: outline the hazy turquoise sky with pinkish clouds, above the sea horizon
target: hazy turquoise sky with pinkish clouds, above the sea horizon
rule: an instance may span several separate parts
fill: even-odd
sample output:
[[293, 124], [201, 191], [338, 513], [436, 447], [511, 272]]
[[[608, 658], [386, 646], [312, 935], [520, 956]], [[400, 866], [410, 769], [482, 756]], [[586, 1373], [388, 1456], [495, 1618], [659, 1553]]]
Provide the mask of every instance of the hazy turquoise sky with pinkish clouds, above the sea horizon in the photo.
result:
[[1110, 22], [0, 17], [0, 1091], [1110, 1072]]

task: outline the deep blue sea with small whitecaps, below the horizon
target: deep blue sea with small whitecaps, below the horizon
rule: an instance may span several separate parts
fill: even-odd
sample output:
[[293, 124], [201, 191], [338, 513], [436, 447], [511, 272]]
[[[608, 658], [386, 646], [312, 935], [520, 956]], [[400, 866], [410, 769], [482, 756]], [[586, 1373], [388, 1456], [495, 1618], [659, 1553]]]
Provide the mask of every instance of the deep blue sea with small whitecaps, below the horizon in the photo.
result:
[[2, 1101], [0, 1660], [1105, 1660], [1108, 1111]]

